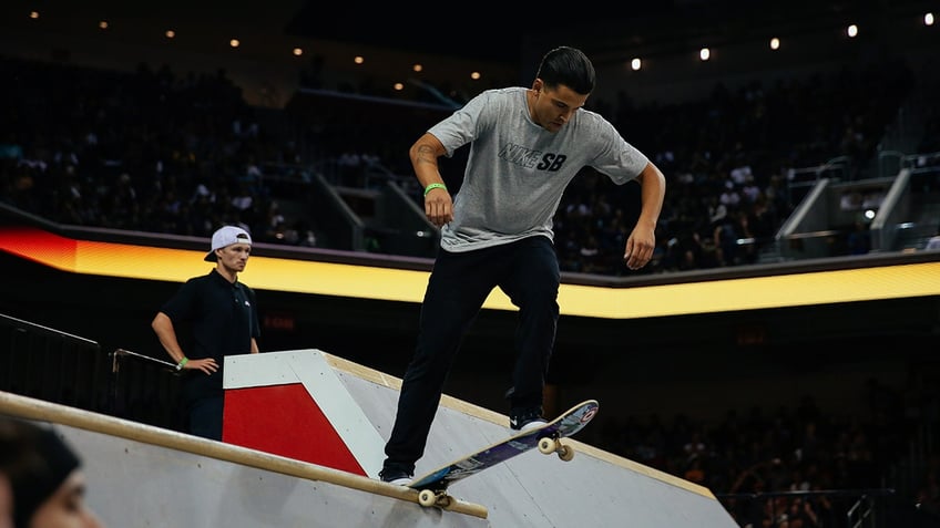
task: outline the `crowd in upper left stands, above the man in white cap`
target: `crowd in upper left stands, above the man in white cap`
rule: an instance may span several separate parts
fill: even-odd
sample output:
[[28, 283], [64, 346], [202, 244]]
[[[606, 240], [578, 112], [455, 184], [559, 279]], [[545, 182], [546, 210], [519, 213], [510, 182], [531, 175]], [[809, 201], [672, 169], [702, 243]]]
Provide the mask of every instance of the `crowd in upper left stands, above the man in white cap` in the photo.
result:
[[263, 130], [225, 71], [0, 59], [0, 72], [4, 203], [74, 226], [210, 237], [236, 224], [259, 241], [311, 238], [262, 170], [299, 163], [295, 145]]

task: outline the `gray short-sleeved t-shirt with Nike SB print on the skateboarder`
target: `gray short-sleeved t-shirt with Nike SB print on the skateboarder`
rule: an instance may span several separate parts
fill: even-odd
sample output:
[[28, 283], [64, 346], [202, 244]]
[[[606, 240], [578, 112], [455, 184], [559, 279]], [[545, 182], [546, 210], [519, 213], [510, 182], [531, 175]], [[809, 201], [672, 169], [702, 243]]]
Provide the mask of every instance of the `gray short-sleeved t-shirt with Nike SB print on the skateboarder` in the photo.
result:
[[441, 247], [470, 251], [525, 237], [554, 239], [552, 218], [571, 179], [591, 166], [622, 185], [648, 163], [601, 115], [580, 108], [556, 133], [532, 121], [527, 89], [488, 90], [428, 132], [452, 156], [471, 143]]

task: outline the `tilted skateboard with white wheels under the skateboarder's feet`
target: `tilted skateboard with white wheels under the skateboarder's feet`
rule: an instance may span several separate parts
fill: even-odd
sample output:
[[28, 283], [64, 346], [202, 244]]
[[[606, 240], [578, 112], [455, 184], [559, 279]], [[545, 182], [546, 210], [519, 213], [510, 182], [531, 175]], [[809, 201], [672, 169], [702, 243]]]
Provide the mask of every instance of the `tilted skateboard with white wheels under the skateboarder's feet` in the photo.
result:
[[588, 422], [597, 414], [597, 408], [596, 400], [581, 402], [544, 425], [515, 433], [509, 438], [497, 442], [477, 453], [458, 458], [416, 478], [408, 487], [419, 491], [418, 504], [421, 506], [446, 507], [451, 501], [451, 497], [447, 494], [447, 488], [451, 484], [528, 451], [538, 448], [545, 455], [555, 453], [562, 460], [571, 460], [574, 458], [574, 449], [563, 444], [561, 438], [571, 436], [584, 428]]

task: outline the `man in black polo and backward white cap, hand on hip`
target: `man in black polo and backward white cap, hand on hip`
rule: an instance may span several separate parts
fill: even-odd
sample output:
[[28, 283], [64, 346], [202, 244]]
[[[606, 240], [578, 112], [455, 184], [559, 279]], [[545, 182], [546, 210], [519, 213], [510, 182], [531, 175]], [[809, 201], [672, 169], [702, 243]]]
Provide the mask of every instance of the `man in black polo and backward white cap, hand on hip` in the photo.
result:
[[[222, 366], [232, 354], [256, 354], [260, 335], [255, 292], [238, 282], [252, 252], [252, 237], [235, 226], [212, 236], [208, 275], [187, 280], [157, 312], [151, 327], [183, 374], [190, 433], [222, 439]], [[176, 327], [190, 325], [192, 342], [183, 352]]]

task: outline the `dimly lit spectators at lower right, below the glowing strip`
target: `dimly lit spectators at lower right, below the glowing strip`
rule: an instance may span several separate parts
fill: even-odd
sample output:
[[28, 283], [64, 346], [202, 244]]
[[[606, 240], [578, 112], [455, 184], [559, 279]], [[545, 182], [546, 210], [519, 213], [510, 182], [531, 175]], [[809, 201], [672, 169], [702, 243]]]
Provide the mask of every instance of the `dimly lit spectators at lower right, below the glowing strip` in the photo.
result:
[[684, 414], [607, 421], [599, 443], [708, 488], [742, 527], [847, 527], [847, 510], [886, 488], [896, 494], [875, 497], [882, 511], [920, 505], [924, 519], [940, 522], [940, 458], [928, 460], [911, 489], [896, 488], [892, 475], [924, 416], [936, 423], [936, 390], [911, 383], [899, 391], [872, 379], [860, 394], [858, 413], [824, 411], [803, 396], [775, 410], [729, 410], [712, 422]]

